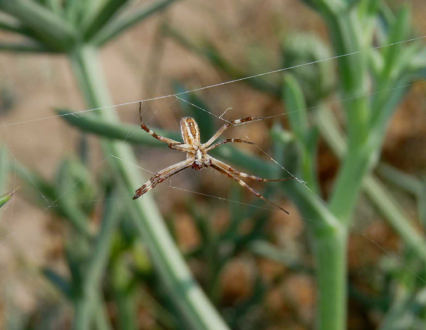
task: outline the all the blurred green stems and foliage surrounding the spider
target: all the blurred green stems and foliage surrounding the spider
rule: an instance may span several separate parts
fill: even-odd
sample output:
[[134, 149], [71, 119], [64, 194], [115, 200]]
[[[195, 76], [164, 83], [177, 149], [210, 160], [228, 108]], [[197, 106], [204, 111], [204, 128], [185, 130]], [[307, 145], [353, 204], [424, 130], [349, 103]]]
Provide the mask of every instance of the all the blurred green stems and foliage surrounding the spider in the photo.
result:
[[[26, 37], [23, 43], [0, 43], [0, 49], [65, 54], [71, 60], [88, 107], [110, 106], [98, 63], [98, 48], [172, 2], [162, 0], [126, 11], [128, 1], [123, 0], [0, 0], [0, 10], [7, 14], [4, 19], [1, 17], [0, 28]], [[407, 8], [394, 16], [378, 0], [305, 2], [324, 18], [331, 46], [312, 34], [286, 36], [277, 41], [281, 48], [276, 69], [283, 66], [288, 69], [278, 79], [262, 75], [242, 82], [282, 101], [285, 107], [289, 129], [278, 123], [272, 126], [272, 157], [302, 182], [268, 185], [262, 194], [288, 195], [294, 201], [306, 220], [314, 267], [306, 264], [304, 258], [295, 258], [275, 247], [267, 230], [270, 212], [262, 209], [263, 203], [257, 200], [253, 201], [253, 206], [259, 207], [255, 211], [242, 208], [244, 199], [240, 189], [230, 192], [233, 201], [229, 204], [230, 221], [222, 232], [213, 230], [214, 206], [205, 208], [198, 205], [198, 200], [188, 201], [184, 210], [190, 215], [200, 241], [195, 249], [184, 254], [184, 259], [203, 265], [204, 270], [196, 279], [207, 300], [170, 239], [154, 201], [147, 196], [136, 204], [123, 198], [131, 194], [134, 181], [141, 181], [139, 173], [130, 166], [136, 164], [136, 158], [128, 144], [157, 148], [161, 143], [133, 125], [120, 123], [114, 112], [96, 111], [77, 117], [70, 109], [58, 109], [61, 118], [82, 132], [79, 150], [63, 158], [53, 180], [32, 169], [16, 164], [15, 167], [25, 183], [26, 198], [69, 224], [64, 247], [69, 276], [49, 267], [41, 273], [73, 306], [74, 329], [137, 329], [141, 310], [147, 311], [155, 321], [153, 328], [158, 329], [266, 328], [276, 320], [259, 306], [287, 271], [317, 276], [318, 329], [346, 328], [348, 295], [368, 312], [382, 313], [380, 329], [424, 327], [425, 238], [374, 172], [377, 169], [387, 180], [416, 196], [424, 226], [424, 183], [386, 164], [378, 165], [378, 159], [387, 124], [406, 95], [406, 85], [423, 75], [425, 48], [417, 41], [399, 43], [412, 37]], [[241, 69], [238, 63], [227, 60], [207, 37], [200, 36], [203, 41], [197, 43], [173, 26], [164, 26], [163, 31], [206, 58], [230, 79], [258, 73], [256, 56], [262, 56], [262, 49], [255, 52], [257, 55], [247, 52], [251, 56], [247, 62], [253, 67]], [[337, 69], [334, 62], [327, 60], [334, 56]], [[201, 138], [206, 140], [213, 135], [216, 123], [208, 112], [199, 111], [190, 103], [210, 111], [208, 100], [196, 93], [184, 93], [187, 87], [183, 83], [175, 81], [173, 86], [182, 99], [179, 103], [182, 114], [196, 118]], [[343, 123], [337, 121], [328, 106], [337, 103], [336, 100], [343, 100]], [[135, 133], [129, 136], [130, 131]], [[155, 131], [179, 139], [178, 132]], [[99, 137], [107, 169], [98, 172], [90, 168], [86, 134]], [[340, 158], [340, 169], [326, 201], [317, 169], [321, 138]], [[122, 143], [124, 140], [126, 143]], [[5, 181], [4, 169], [9, 164], [3, 156], [6, 149], [1, 152], [0, 188]], [[271, 162], [233, 146], [215, 149], [212, 155], [256, 175], [287, 176]], [[381, 259], [377, 268], [384, 275], [376, 278], [379, 283], [376, 288], [380, 290], [371, 294], [348, 281], [347, 274], [348, 234], [355, 232], [367, 237], [353, 225], [362, 192], [406, 244], [402, 265], [387, 254]], [[11, 194], [0, 197], [0, 206], [1, 198], [10, 198]], [[167, 229], [173, 235], [176, 215], [167, 217], [170, 220]], [[243, 225], [249, 225], [249, 230], [242, 232]], [[256, 272], [250, 294], [230, 304], [222, 297], [221, 275], [230, 261], [245, 254], [277, 261], [285, 270], [269, 283]], [[375, 270], [363, 271], [374, 278]], [[299, 307], [293, 306], [294, 310]], [[297, 315], [293, 317], [281, 321], [285, 325], [291, 321], [303, 323]], [[20, 329], [46, 328], [45, 323], [34, 319], [26, 318]]]

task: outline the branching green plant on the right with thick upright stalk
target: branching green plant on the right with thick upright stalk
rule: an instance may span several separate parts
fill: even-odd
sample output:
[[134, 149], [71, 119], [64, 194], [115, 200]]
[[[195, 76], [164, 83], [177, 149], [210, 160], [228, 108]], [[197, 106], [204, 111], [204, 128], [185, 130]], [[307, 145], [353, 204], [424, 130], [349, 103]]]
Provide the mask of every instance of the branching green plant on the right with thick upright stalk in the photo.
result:
[[[400, 43], [411, 37], [407, 8], [401, 9], [394, 17], [383, 1], [305, 0], [305, 3], [324, 18], [332, 55], [328, 55], [327, 48], [319, 45], [318, 41], [306, 42], [308, 37], [300, 39], [300, 42], [299, 38], [289, 38], [283, 43], [284, 67], [289, 68], [284, 72], [283, 85], [264, 75], [242, 81], [285, 101], [293, 136], [299, 147], [298, 166], [286, 168], [294, 169], [294, 173], [307, 182], [311, 192], [298, 182], [286, 183], [285, 189], [305, 218], [326, 224], [308, 223], [317, 256], [318, 328], [344, 329], [347, 234], [362, 189], [406, 244], [426, 261], [424, 237], [414, 229], [380, 182], [371, 176], [387, 124], [408, 90], [406, 85], [420, 77], [426, 67], [425, 48], [419, 42]], [[259, 73], [250, 71], [250, 67], [237, 69], [238, 65], [226, 60], [209, 40], [194, 43], [172, 26], [166, 26], [165, 32], [187, 49], [205, 57], [232, 79]], [[310, 46], [312, 48], [309, 49]], [[377, 46], [383, 47], [373, 49]], [[337, 57], [338, 63], [336, 83], [332, 66], [324, 64], [332, 56]], [[302, 65], [301, 59], [311, 64]], [[282, 86], [281, 94], [278, 91]], [[346, 139], [333, 135], [338, 129], [333, 115], [326, 107], [318, 106], [326, 103], [325, 98], [333, 94], [344, 100]], [[316, 107], [312, 112], [319, 115], [311, 119], [307, 107], [312, 106]], [[327, 120], [325, 115], [331, 116], [332, 120]], [[319, 197], [317, 184], [316, 123], [320, 123], [318, 127], [322, 135], [341, 157], [342, 164], [327, 204]], [[279, 130], [273, 132], [273, 136], [284, 143], [283, 134]], [[242, 165], [251, 167], [250, 164]]]

